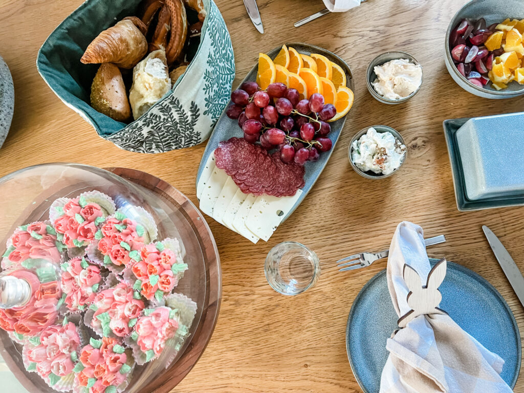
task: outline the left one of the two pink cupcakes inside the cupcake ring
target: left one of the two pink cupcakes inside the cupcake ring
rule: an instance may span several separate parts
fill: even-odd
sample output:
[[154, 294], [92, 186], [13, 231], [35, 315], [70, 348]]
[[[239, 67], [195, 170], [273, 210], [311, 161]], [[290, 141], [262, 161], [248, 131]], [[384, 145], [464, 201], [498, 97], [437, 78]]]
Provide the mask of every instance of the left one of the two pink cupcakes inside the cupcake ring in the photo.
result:
[[102, 276], [100, 267], [90, 264], [84, 257], [73, 258], [61, 265], [62, 292], [65, 293], [65, 305], [69, 311], [83, 311], [93, 304], [96, 292], [100, 288]]

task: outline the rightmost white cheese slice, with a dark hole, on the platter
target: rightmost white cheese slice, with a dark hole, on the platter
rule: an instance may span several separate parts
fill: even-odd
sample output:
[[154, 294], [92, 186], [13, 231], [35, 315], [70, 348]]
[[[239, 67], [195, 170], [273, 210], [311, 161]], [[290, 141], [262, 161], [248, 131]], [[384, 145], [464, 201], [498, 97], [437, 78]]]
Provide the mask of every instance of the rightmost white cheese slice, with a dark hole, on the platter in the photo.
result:
[[260, 195], [247, 216], [246, 226], [250, 232], [267, 242], [283, 218], [300, 198], [302, 190], [293, 196]]

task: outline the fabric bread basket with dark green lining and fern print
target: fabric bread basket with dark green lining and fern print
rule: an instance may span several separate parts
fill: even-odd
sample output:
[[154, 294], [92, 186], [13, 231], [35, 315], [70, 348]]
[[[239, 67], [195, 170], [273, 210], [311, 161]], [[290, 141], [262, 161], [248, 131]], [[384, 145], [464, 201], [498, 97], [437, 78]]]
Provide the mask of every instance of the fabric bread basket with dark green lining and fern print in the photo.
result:
[[231, 37], [213, 0], [203, 0], [201, 41], [173, 88], [136, 121], [125, 124], [90, 106], [91, 82], [99, 64], [80, 58], [102, 30], [135, 15], [140, 0], [87, 0], [47, 38], [37, 69], [65, 105], [80, 114], [104, 139], [135, 152], [158, 153], [191, 147], [208, 139], [229, 101], [235, 78]]

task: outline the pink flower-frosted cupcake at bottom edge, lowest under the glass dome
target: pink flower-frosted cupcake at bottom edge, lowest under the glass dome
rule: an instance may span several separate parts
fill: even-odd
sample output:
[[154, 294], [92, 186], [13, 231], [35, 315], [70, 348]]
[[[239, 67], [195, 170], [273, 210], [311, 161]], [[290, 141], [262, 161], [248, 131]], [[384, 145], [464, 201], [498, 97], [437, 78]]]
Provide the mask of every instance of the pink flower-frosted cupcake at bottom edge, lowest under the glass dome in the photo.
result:
[[125, 389], [134, 367], [133, 356], [116, 339], [91, 339], [74, 368], [75, 392], [115, 393]]

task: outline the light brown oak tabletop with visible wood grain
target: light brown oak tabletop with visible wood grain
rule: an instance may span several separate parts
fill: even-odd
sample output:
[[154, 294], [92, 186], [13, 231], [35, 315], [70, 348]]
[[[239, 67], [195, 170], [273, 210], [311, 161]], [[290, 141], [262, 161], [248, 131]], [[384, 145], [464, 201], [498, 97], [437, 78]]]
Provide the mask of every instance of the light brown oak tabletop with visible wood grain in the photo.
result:
[[[39, 47], [81, 3], [0, 2], [0, 54], [15, 85], [15, 113], [0, 150], [0, 176], [43, 162], [127, 167], [170, 182], [196, 204], [195, 176], [205, 143], [156, 155], [121, 150], [98, 137], [38, 75]], [[358, 251], [384, 248], [402, 220], [420, 224], [428, 236], [446, 235], [447, 242], [432, 246], [429, 255], [446, 256], [488, 279], [504, 296], [524, 332], [522, 306], [481, 229], [483, 224], [492, 228], [524, 271], [524, 209], [461, 213], [455, 204], [442, 121], [519, 112], [524, 104], [523, 98], [493, 101], [476, 97], [447, 73], [445, 31], [465, 3], [369, 0], [350, 12], [294, 28], [295, 21], [323, 9], [320, 0], [258, 0], [266, 31], [260, 35], [241, 0], [217, 1], [236, 55], [234, 86], [253, 67], [259, 51], [267, 52], [286, 41], [308, 42], [338, 54], [350, 65], [355, 104], [321, 178], [269, 242], [253, 245], [206, 217], [222, 262], [222, 305], [203, 356], [173, 392], [361, 391], [347, 361], [346, 321], [358, 291], [386, 263], [378, 261], [369, 268], [342, 273], [334, 261]], [[366, 88], [368, 63], [389, 50], [411, 53], [423, 65], [420, 92], [401, 105], [379, 103]], [[358, 130], [376, 124], [399, 130], [409, 154], [397, 174], [374, 181], [351, 169], [347, 147]], [[0, 203], [13, 197], [1, 195]], [[291, 240], [311, 247], [322, 268], [317, 285], [297, 297], [278, 294], [264, 277], [269, 249]], [[517, 381], [515, 392], [524, 393], [523, 378]]]

